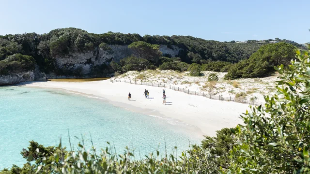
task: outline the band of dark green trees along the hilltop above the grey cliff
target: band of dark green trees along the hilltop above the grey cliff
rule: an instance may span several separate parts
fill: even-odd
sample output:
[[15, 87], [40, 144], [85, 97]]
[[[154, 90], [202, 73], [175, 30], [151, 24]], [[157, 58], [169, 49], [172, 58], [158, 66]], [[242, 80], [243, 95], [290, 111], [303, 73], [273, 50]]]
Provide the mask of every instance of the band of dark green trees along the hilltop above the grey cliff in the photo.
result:
[[[177, 58], [189, 64], [202, 64], [210, 61], [235, 63], [249, 57], [240, 48], [232, 48], [225, 43], [206, 41], [191, 36], [145, 35], [142, 37], [139, 34], [123, 34], [110, 31], [103, 34], [94, 34], [82, 29], [65, 28], [54, 29], [46, 34], [24, 33], [0, 36], [0, 60], [19, 53], [34, 58], [35, 63], [39, 65], [42, 71], [61, 74], [63, 72], [55, 65], [55, 57], [65, 56], [73, 52], [90, 51], [96, 47], [109, 50], [110, 44], [130, 45], [135, 42], [151, 44], [151, 47], [160, 44], [165, 44], [169, 48], [172, 48], [172, 45], [178, 46], [182, 50]], [[134, 47], [130, 48], [135, 49]], [[134, 51], [136, 56], [141, 56], [137, 49]], [[167, 57], [168, 55], [162, 56]], [[161, 56], [156, 56], [156, 58], [159, 59]], [[168, 58], [171, 57], [168, 56]], [[161, 62], [152, 63], [158, 67], [158, 63]]]

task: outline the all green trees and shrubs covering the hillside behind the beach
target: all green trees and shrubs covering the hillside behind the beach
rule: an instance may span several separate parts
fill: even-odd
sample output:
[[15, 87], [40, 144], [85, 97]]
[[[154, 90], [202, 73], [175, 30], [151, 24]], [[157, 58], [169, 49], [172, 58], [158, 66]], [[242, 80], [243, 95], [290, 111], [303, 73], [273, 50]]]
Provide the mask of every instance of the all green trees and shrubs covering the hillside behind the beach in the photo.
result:
[[[281, 45], [281, 43], [279, 44]], [[111, 57], [105, 60], [105, 62], [96, 65], [92, 64], [92, 59], [88, 59], [85, 63], [90, 65], [91, 71], [87, 74], [82, 73], [83, 68], [80, 66], [72, 68], [70, 67], [72, 66], [71, 63], [59, 66], [56, 62], [58, 58], [74, 60], [76, 57], [73, 55], [76, 54], [86, 54], [88, 52], [95, 54], [99, 49], [105, 51], [107, 55], [112, 55], [114, 51], [111, 46], [113, 45], [124, 45], [125, 48], [130, 50], [129, 52], [132, 55], [125, 56], [123, 62], [120, 62], [123, 59], [121, 58], [117, 61], [114, 60], [112, 63], [113, 57]], [[178, 50], [176, 52], [177, 55], [162, 54], [160, 52], [162, 45], [167, 47], [167, 49]], [[270, 47], [276, 47], [276, 45], [278, 43], [222, 43], [191, 36], [176, 35], [145, 35], [142, 37], [139, 34], [123, 34], [111, 31], [103, 34], [94, 34], [82, 29], [64, 28], [54, 29], [46, 34], [24, 33], [0, 36], [0, 61], [14, 54], [21, 54], [32, 57], [34, 64], [37, 64], [44, 73], [76, 75], [80, 77], [83, 75], [100, 77], [114, 72], [120, 74], [131, 70], [154, 70], [156, 68], [183, 72], [188, 69], [190, 64], [196, 63], [201, 66], [201, 71], [229, 72], [227, 79], [234, 79], [262, 76], [262, 74], [271, 71], [271, 67], [274, 64], [281, 63], [273, 59], [269, 60], [264, 53], [269, 50], [272, 51]], [[293, 45], [303, 49], [303, 46], [297, 43], [286, 43], [286, 45], [282, 45], [279, 48], [283, 47], [284, 49], [284, 47], [293, 47]], [[289, 48], [285, 49], [290, 51]], [[258, 50], [261, 51], [256, 53]], [[280, 50], [276, 52], [280, 52]], [[288, 57], [285, 57], [288, 59], [294, 52], [285, 52], [285, 54], [290, 54]], [[260, 59], [260, 56], [265, 57]], [[265, 60], [267, 61], [266, 63]], [[24, 66], [24, 63], [26, 63], [19, 60], [14, 61], [14, 63], [19, 62], [21, 66]], [[261, 65], [261, 63], [263, 63], [263, 68], [255, 67], [255, 64]], [[1, 64], [4, 67], [4, 64], [7, 63], [4, 61]], [[18, 67], [13, 70], [9, 65], [5, 65], [5, 67], [7, 66], [8, 68], [5, 68], [6, 73], [34, 69], [32, 66], [31, 69], [27, 70]], [[231, 70], [231, 67], [233, 70]], [[244, 68], [247, 70], [243, 70]]]

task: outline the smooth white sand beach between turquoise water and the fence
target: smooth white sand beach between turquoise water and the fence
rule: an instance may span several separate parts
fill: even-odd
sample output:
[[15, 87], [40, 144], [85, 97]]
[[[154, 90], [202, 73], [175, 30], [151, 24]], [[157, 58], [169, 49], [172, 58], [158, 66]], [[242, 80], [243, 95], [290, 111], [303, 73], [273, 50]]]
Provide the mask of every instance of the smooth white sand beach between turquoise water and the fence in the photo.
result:
[[[112, 104], [158, 118], [171, 118], [190, 125], [197, 136], [216, 135], [222, 128], [232, 128], [242, 123], [240, 114], [248, 104], [210, 100], [166, 88], [167, 105], [162, 104], [162, 87], [140, 86], [128, 83], [111, 83], [109, 80], [94, 82], [33, 82], [28, 87], [64, 89], [107, 99]], [[144, 89], [150, 92], [145, 99]], [[128, 101], [128, 93], [132, 94]]]

